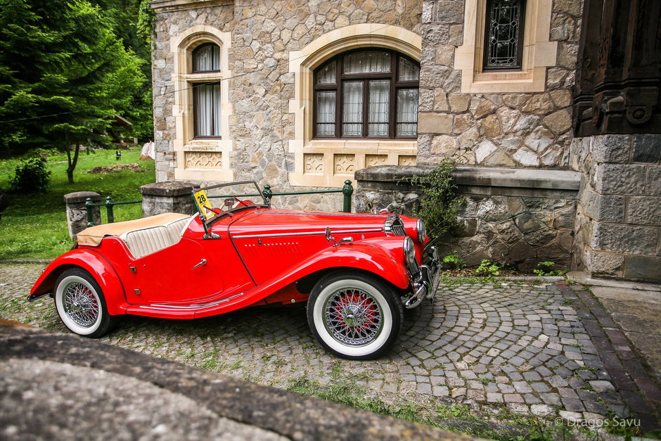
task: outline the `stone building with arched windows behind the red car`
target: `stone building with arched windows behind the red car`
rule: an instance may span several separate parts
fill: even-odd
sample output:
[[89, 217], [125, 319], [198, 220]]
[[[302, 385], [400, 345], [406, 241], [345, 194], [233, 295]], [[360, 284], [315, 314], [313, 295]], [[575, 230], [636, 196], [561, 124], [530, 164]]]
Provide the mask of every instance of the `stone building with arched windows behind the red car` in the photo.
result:
[[[620, 3], [154, 0], [157, 181], [255, 179], [292, 191], [358, 179], [357, 210], [396, 211], [410, 209], [420, 192], [393, 179], [453, 158], [467, 203], [444, 252], [470, 264], [489, 258], [530, 269], [552, 260], [659, 279], [659, 124], [590, 132], [582, 127], [596, 118], [586, 115], [591, 98], [621, 116], [637, 95], [613, 101], [623, 90], [616, 87], [604, 101], [612, 81], [590, 89], [596, 76], [585, 69], [574, 94], [577, 67], [602, 63], [607, 40], [586, 34], [586, 21], [597, 29], [620, 17], [612, 29], [623, 32], [637, 18], [660, 18], [651, 0]], [[658, 60], [656, 40], [647, 38], [645, 50]], [[612, 60], [622, 62], [620, 49]], [[643, 67], [638, 88], [654, 84], [654, 63]], [[620, 75], [620, 85], [628, 78]], [[643, 108], [658, 110], [658, 95], [643, 95]], [[627, 144], [626, 158], [616, 144]], [[622, 155], [615, 160], [608, 149]], [[622, 176], [629, 186], [613, 188]], [[617, 243], [620, 227], [636, 244]]]

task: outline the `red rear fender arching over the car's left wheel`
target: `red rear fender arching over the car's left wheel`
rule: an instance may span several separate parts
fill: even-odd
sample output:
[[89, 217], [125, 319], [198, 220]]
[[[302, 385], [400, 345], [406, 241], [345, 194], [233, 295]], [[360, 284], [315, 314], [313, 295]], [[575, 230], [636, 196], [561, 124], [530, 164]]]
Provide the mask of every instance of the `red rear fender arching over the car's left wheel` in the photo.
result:
[[108, 306], [108, 314], [126, 314], [124, 308], [126, 295], [124, 295], [124, 287], [119, 276], [110, 262], [101, 253], [91, 248], [75, 248], [53, 260], [41, 273], [39, 279], [34, 282], [27, 300], [51, 293], [55, 289], [55, 283], [60, 274], [73, 267], [79, 267], [89, 272], [96, 283], [101, 286], [105, 304]]

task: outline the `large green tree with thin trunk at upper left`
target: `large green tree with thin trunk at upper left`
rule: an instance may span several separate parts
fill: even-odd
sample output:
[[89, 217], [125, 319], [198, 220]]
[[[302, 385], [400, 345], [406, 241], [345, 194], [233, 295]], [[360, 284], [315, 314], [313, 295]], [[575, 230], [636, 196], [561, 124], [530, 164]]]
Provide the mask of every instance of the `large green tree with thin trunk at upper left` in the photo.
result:
[[107, 143], [131, 108], [141, 63], [87, 1], [0, 0], [0, 148], [60, 148], [73, 182], [81, 144]]

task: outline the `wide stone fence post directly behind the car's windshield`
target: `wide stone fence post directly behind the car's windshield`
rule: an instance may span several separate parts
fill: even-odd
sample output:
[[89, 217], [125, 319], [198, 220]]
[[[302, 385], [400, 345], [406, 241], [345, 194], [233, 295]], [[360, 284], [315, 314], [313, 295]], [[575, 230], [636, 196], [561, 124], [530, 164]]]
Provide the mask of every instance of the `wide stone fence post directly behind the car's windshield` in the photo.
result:
[[161, 213], [193, 214], [193, 188], [198, 184], [185, 181], [164, 181], [140, 187], [143, 217]]

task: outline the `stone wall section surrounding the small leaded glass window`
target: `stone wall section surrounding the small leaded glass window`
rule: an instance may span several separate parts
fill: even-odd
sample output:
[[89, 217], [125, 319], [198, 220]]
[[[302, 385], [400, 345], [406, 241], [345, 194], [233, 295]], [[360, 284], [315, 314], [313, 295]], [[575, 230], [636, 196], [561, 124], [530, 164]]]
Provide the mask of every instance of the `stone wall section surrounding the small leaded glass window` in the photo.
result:
[[[566, 169], [582, 2], [528, 1], [530, 8], [539, 5], [539, 15], [550, 14], [548, 23], [537, 17], [537, 25], [546, 29], [534, 29], [535, 35], [530, 34], [531, 23], [526, 23], [526, 49], [537, 46], [532, 58], [548, 59], [544, 63], [528, 60], [527, 72], [537, 79], [526, 77], [526, 72], [503, 72], [476, 82], [473, 90], [482, 93], [466, 93], [462, 91], [471, 89], [468, 82], [473, 70], [480, 70], [473, 68], [473, 58], [480, 60], [475, 51], [482, 50], [475, 46], [480, 41], [469, 41], [469, 35], [482, 39], [483, 34], [466, 28], [465, 22], [473, 27], [479, 23], [475, 14], [480, 13], [476, 12], [479, 5], [484, 8], [482, 3], [424, 1], [418, 164], [451, 157], [463, 165]], [[547, 7], [551, 10], [546, 11]], [[473, 15], [467, 17], [467, 12]], [[470, 72], [459, 70], [462, 63]], [[499, 80], [507, 75], [523, 79]], [[525, 91], [535, 88], [539, 90]]]

